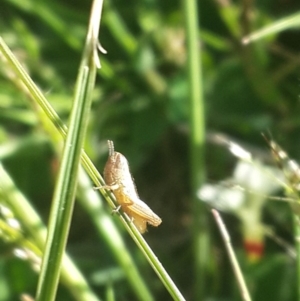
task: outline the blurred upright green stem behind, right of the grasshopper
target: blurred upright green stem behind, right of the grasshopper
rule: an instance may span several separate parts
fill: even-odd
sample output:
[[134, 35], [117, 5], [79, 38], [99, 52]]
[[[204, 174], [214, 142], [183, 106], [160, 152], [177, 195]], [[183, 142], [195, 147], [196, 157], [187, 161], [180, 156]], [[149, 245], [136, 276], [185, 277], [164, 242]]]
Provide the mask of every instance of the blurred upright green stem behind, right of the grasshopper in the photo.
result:
[[196, 0], [184, 0], [189, 79], [190, 122], [190, 187], [193, 203], [193, 241], [195, 254], [195, 300], [202, 300], [206, 287], [209, 262], [208, 221], [204, 205], [196, 198], [197, 189], [204, 182], [205, 112], [201, 48], [199, 40], [198, 7]]

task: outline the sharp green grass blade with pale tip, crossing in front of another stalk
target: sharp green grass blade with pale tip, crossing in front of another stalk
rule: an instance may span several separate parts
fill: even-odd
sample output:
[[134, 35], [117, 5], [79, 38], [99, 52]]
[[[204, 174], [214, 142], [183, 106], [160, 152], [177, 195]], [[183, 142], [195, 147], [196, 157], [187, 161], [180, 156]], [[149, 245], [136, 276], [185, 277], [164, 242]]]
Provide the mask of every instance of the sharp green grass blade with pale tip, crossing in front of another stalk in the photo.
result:
[[102, 0], [95, 0], [93, 3], [85, 50], [77, 78], [70, 126], [51, 207], [45, 252], [36, 293], [37, 301], [54, 301], [56, 297], [62, 258], [72, 220], [80, 155], [96, 79], [97, 57], [95, 51], [102, 5]]

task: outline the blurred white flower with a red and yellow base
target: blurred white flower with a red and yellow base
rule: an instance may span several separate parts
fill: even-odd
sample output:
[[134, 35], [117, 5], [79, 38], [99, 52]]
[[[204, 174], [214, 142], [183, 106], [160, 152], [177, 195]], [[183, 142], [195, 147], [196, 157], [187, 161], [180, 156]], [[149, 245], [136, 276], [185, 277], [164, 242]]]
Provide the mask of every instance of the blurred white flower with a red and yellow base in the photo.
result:
[[244, 246], [251, 261], [261, 258], [264, 250], [262, 207], [270, 194], [282, 188], [283, 179], [278, 168], [258, 161], [239, 160], [232, 178], [217, 185], [205, 184], [198, 190], [197, 196], [202, 201], [239, 218]]

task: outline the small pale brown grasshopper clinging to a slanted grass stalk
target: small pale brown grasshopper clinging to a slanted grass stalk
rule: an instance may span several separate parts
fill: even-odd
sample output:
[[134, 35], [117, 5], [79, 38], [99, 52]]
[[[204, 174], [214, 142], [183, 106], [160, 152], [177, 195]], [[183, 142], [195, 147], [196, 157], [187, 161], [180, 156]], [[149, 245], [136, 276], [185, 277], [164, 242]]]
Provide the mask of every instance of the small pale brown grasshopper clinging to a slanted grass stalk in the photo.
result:
[[132, 219], [137, 229], [144, 233], [147, 223], [157, 227], [162, 220], [148, 205], [140, 200], [133, 179], [130, 174], [127, 159], [114, 150], [113, 141], [108, 140], [109, 157], [104, 167], [104, 181], [102, 188], [110, 189], [120, 208]]

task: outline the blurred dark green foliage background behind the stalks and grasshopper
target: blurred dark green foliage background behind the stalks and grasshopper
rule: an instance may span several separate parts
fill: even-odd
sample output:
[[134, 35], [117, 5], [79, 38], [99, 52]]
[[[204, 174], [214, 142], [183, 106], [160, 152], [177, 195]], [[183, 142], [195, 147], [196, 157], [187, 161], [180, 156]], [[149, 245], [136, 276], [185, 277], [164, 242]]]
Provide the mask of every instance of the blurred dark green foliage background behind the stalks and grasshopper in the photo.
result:
[[[89, 5], [66, 0], [0, 3], [1, 36], [66, 123]], [[270, 132], [293, 157], [300, 159], [299, 28], [274, 33], [249, 45], [241, 43], [252, 31], [299, 10], [296, 0], [199, 1], [199, 47], [209, 131], [223, 132], [266, 150], [261, 132]], [[193, 300], [182, 5], [179, 1], [107, 1], [100, 42], [108, 53], [101, 56], [87, 153], [100, 170], [107, 157], [107, 139], [113, 140], [116, 149], [126, 155], [139, 194], [163, 219], [158, 229], [149, 230], [146, 239], [186, 299]], [[1, 160], [19, 189], [47, 221], [58, 159], [24, 101], [28, 96], [4, 62], [0, 84]], [[231, 159], [226, 158], [225, 150], [213, 148], [207, 146], [209, 180], [230, 176]], [[288, 208], [274, 203], [268, 207], [266, 221], [292, 243]], [[227, 218], [253, 300], [295, 300], [299, 284], [294, 259], [266, 240], [265, 256], [255, 264], [249, 263], [237, 221]], [[213, 253], [207, 299], [240, 300], [224, 246], [214, 222], [211, 223]], [[169, 300], [129, 239], [128, 248], [156, 300]], [[30, 266], [15, 259], [12, 249], [1, 243], [0, 301], [17, 300], [21, 292], [35, 292], [35, 276], [26, 277], [32, 273]], [[113, 270], [116, 264], [80, 208], [75, 208], [68, 249], [87, 278], [92, 279], [94, 290], [104, 297], [108, 280], [99, 281], [95, 275]], [[115, 281], [116, 299], [134, 300], [123, 274], [115, 272], [117, 276], [107, 272], [107, 277]], [[64, 289], [60, 294], [63, 297], [58, 300], [69, 300]]]

